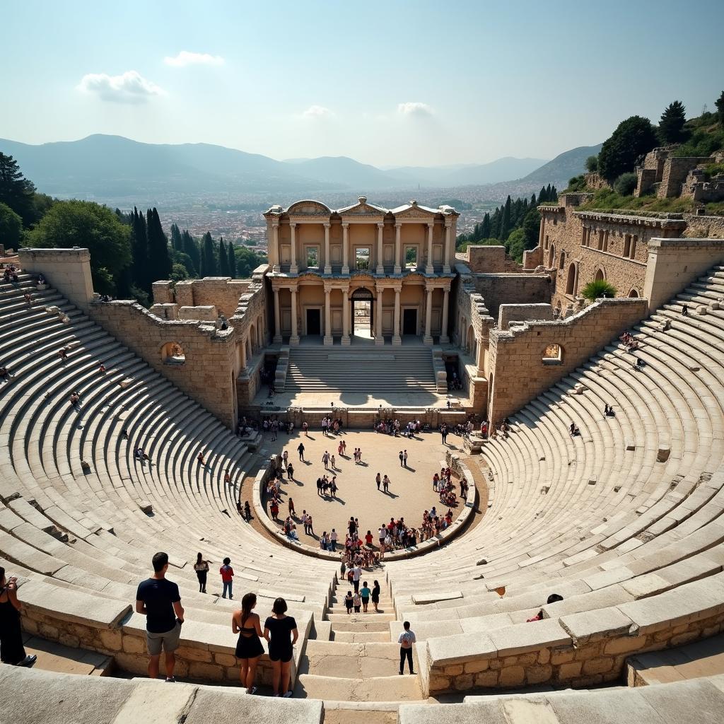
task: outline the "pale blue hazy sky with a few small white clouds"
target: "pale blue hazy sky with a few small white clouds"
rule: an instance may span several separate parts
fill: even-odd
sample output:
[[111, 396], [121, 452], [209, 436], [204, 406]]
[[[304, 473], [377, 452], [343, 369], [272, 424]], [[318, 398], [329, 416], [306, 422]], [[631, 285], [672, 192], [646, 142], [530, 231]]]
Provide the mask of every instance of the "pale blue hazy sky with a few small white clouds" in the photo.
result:
[[549, 159], [724, 90], [724, 0], [2, 0], [0, 18], [0, 138], [26, 143]]

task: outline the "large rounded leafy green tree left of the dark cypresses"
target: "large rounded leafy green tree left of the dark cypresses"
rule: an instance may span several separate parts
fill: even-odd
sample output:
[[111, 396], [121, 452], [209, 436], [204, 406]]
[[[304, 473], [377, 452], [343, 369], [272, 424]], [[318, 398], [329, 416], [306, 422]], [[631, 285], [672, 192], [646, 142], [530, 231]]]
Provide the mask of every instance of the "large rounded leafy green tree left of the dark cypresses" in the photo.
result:
[[122, 271], [131, 262], [130, 235], [130, 228], [106, 206], [59, 201], [25, 235], [23, 243], [37, 248], [88, 248], [96, 291], [114, 294]]

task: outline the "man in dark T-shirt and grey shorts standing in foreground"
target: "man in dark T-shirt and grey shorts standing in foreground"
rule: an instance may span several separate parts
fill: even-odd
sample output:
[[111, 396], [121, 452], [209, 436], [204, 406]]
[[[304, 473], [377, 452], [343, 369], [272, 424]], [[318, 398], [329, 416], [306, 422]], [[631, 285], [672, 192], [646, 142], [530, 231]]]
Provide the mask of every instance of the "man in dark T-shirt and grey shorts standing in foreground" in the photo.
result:
[[159, 552], [153, 556], [153, 576], [142, 581], [136, 592], [136, 613], [146, 616], [146, 644], [151, 660], [148, 662], [148, 676], [159, 675], [161, 649], [166, 657], [166, 681], [173, 682], [176, 657], [179, 647], [183, 606], [179, 587], [167, 580], [169, 556]]

